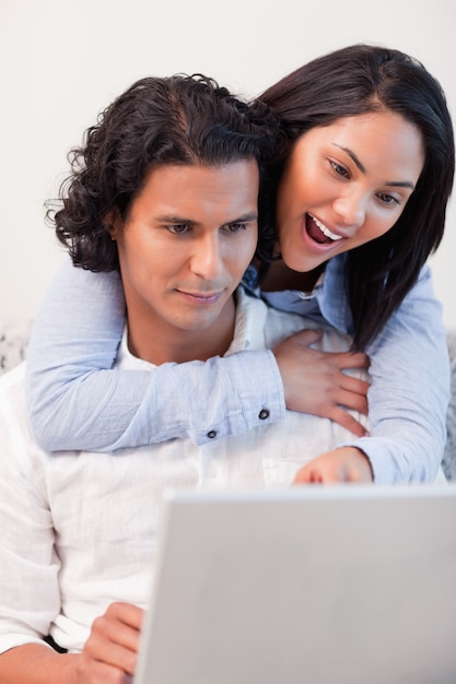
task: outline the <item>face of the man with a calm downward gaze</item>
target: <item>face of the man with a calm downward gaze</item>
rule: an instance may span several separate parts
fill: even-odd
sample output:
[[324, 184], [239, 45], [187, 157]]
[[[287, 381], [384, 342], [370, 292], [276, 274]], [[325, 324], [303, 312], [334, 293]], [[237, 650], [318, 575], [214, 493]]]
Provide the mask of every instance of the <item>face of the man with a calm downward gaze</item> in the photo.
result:
[[208, 343], [221, 326], [232, 333], [232, 295], [258, 239], [258, 188], [254, 160], [151, 170], [126, 222], [112, 228], [133, 353], [148, 356], [141, 338], [152, 330], [164, 345], [195, 344], [200, 331]]

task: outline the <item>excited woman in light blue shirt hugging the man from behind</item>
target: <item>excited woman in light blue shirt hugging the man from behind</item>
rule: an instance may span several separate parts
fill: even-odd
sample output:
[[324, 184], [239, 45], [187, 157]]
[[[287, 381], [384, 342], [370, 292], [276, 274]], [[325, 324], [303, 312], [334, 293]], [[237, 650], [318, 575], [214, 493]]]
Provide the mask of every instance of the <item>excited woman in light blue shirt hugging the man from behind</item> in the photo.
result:
[[[260, 99], [280, 115], [288, 139], [277, 169], [282, 260], [262, 278], [264, 296], [349, 333], [353, 349], [371, 359], [371, 435], [321, 455], [321, 480], [346, 479], [340, 465], [356, 451], [367, 456], [375, 482], [432, 480], [448, 401], [445, 331], [425, 266], [442, 239], [454, 175], [444, 95], [410, 57], [361, 45], [314, 60]], [[321, 191], [325, 173], [332, 177]], [[247, 275], [256, 286], [256, 272], [254, 280]], [[84, 288], [92, 295], [94, 286], [96, 310], [84, 297]], [[290, 339], [274, 350], [276, 358], [244, 352], [203, 365], [165, 364], [149, 376], [109, 370], [122, 327], [117, 274], [61, 273], [28, 352], [31, 423], [42, 447], [112, 450], [184, 435], [202, 444], [238, 434], [260, 424], [265, 406], [270, 420], [283, 414], [278, 367], [289, 409], [342, 422], [335, 404], [356, 402], [341, 372], [362, 357], [335, 359], [306, 349], [315, 338]], [[317, 362], [325, 373], [336, 368], [326, 402], [318, 401], [326, 376], [315, 377]], [[172, 416], [163, 387], [174, 401], [182, 399]], [[229, 432], [218, 432], [226, 414]], [[313, 479], [312, 469], [301, 474], [303, 482]]]

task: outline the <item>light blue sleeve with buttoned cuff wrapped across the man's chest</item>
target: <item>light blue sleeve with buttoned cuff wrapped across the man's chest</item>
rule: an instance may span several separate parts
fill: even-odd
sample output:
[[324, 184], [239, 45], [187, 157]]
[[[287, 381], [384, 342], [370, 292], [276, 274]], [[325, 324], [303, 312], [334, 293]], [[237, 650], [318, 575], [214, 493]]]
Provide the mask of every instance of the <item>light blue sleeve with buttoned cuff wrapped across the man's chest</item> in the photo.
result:
[[112, 451], [189, 437], [211, 439], [281, 421], [283, 385], [270, 351], [113, 369], [125, 325], [117, 273], [66, 261], [34, 322], [26, 399], [45, 450]]

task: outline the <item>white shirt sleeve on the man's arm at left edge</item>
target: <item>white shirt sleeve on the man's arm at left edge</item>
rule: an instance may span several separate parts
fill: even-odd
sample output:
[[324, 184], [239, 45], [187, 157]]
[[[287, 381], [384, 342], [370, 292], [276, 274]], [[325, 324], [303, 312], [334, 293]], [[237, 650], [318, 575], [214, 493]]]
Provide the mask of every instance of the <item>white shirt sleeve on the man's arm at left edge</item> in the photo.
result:
[[4, 375], [0, 387], [0, 652], [44, 645], [60, 611], [60, 564], [43, 470], [20, 410], [22, 372], [17, 366]]

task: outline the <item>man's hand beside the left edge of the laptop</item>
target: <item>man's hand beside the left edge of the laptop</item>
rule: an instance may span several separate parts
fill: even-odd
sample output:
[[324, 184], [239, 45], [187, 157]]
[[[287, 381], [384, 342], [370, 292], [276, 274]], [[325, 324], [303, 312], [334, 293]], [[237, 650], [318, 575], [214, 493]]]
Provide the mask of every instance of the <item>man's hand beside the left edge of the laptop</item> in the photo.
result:
[[130, 684], [138, 658], [144, 612], [112, 603], [92, 625], [77, 664], [77, 684]]

